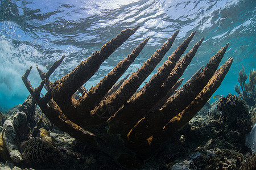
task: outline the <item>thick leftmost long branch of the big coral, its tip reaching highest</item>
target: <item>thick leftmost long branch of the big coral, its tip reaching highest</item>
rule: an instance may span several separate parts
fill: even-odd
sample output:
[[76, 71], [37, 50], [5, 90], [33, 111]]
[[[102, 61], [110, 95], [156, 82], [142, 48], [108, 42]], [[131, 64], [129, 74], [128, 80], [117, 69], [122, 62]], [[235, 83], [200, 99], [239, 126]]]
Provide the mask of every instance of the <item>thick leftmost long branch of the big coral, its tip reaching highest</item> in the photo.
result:
[[[67, 105], [72, 104], [72, 95], [96, 73], [102, 62], [107, 59], [120, 45], [123, 44], [137, 29], [127, 28], [115, 38], [107, 42], [101, 47], [100, 51], [96, 51], [86, 61], [82, 61], [71, 73], [65, 75], [59, 81], [55, 82], [52, 96], [60, 108], [68, 109]], [[76, 83], [74, 83], [76, 82]]]

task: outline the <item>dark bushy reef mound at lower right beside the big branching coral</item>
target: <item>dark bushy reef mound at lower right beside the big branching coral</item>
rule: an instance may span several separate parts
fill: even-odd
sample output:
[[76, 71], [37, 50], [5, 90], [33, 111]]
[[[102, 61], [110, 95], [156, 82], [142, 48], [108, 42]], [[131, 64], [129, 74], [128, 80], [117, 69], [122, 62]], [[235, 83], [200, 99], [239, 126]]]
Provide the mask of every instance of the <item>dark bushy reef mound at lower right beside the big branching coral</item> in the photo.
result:
[[197, 114], [169, 141], [163, 152], [171, 154], [160, 155], [169, 162], [168, 168], [240, 169], [248, 162], [245, 138], [251, 122], [245, 101], [229, 94], [218, 101], [218, 109]]

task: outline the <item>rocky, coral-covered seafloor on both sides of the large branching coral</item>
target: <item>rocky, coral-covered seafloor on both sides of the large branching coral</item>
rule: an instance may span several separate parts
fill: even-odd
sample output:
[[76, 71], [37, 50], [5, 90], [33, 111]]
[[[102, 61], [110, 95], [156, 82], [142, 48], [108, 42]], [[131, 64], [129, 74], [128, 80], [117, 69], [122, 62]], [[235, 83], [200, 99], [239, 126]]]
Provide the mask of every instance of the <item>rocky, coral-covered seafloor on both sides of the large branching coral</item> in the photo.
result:
[[[30, 100], [0, 112], [0, 169], [124, 169], [112, 155], [57, 129], [40, 108], [30, 110]], [[247, 134], [256, 122], [255, 111], [255, 105], [237, 96], [221, 97], [202, 108], [138, 169], [254, 169], [255, 138]], [[22, 120], [22, 112], [34, 120]], [[15, 151], [20, 162], [10, 159], [10, 154], [19, 156]]]

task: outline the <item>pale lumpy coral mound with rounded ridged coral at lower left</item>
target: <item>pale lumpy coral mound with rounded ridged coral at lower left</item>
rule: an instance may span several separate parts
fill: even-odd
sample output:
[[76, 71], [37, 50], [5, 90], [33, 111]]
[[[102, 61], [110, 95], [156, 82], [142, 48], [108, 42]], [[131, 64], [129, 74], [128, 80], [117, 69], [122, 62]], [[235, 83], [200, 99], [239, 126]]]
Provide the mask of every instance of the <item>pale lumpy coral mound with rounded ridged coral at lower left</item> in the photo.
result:
[[[48, 131], [42, 128], [39, 129], [43, 123], [43, 118], [40, 119], [41, 121], [36, 122], [35, 115], [40, 113], [42, 115], [42, 111], [38, 112], [39, 110], [40, 108], [36, 108], [35, 100], [29, 95], [23, 104], [16, 105], [7, 114], [1, 115], [2, 120], [5, 120], [3, 127], [1, 126], [2, 133], [0, 138], [0, 156], [2, 159], [11, 160], [14, 163], [27, 162], [32, 165], [36, 164], [36, 166], [38, 166], [38, 163], [44, 164], [52, 160], [51, 155], [56, 149], [54, 150], [55, 147], [51, 145], [53, 142], [52, 138], [49, 137]], [[35, 129], [39, 129], [38, 135], [42, 140], [32, 138], [32, 135], [36, 135], [36, 133], [31, 130]], [[39, 140], [46, 142], [42, 143]], [[31, 150], [28, 146], [32, 146], [34, 150]], [[42, 165], [42, 167], [45, 166]]]

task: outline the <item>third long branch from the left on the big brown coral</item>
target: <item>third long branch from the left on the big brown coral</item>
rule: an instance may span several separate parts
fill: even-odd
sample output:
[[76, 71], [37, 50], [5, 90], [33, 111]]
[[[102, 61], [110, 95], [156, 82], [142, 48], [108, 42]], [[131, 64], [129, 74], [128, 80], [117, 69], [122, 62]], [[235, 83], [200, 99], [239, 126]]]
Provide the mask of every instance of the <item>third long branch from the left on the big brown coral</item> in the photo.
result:
[[[117, 92], [114, 92], [114, 94], [103, 100], [100, 105], [94, 109], [92, 115], [94, 117], [102, 117], [102, 121], [106, 120], [106, 118], [109, 118], [110, 116], [113, 116], [113, 114], [127, 100], [130, 99], [134, 92], [137, 91], [141, 83], [144, 82], [147, 76], [150, 75], [150, 73], [155, 69], [156, 65], [158, 65], [164, 55], [171, 48], [177, 33], [178, 31], [176, 31], [174, 35], [172, 35], [172, 37], [169, 38], [168, 41], [160, 47], [160, 49], [156, 50], [156, 52], [149, 59], [147, 59], [146, 62], [143, 63], [140, 69], [133, 73], [129, 79], [125, 80]], [[109, 108], [112, 109], [110, 110]], [[110, 126], [112, 126], [111, 122]]]

